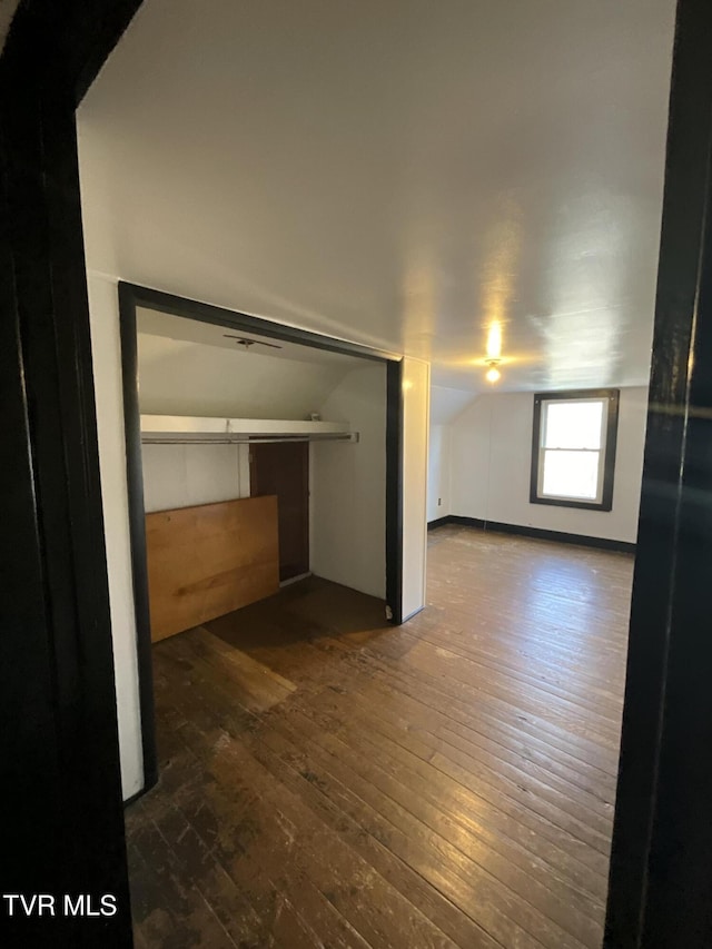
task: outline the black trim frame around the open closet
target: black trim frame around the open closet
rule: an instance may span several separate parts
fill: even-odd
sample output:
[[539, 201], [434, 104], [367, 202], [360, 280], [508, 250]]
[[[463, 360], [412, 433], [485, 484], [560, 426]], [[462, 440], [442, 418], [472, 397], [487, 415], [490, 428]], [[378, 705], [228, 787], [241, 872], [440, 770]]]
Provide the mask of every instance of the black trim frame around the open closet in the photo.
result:
[[148, 602], [148, 566], [141, 469], [141, 417], [138, 401], [137, 307], [148, 307], [169, 316], [196, 319], [241, 333], [298, 343], [314, 349], [356, 356], [386, 368], [386, 603], [392, 622], [403, 621], [403, 372], [399, 356], [349, 343], [263, 317], [199, 303], [162, 290], [119, 281], [121, 369], [123, 379], [123, 421], [126, 426], [126, 476], [129, 504], [131, 573], [136, 604], [139, 704], [144, 751], [145, 787], [158, 780], [151, 633]]

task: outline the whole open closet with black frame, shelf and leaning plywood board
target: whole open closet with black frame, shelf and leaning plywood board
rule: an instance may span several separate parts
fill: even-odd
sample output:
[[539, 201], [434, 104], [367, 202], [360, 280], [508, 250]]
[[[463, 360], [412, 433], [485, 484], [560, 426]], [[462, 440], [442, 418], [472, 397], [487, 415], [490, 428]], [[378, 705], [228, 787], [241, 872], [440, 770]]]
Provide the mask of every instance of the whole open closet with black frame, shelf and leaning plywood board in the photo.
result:
[[266, 629], [283, 602], [312, 631], [400, 622], [400, 362], [131, 284], [119, 305], [147, 790], [158, 641], [229, 643], [263, 601]]

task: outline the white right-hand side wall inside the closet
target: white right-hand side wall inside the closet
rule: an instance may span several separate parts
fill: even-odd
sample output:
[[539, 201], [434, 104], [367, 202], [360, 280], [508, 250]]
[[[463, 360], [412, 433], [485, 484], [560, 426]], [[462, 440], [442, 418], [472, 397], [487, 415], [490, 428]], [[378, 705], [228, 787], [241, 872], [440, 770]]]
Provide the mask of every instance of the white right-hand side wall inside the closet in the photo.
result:
[[312, 572], [372, 596], [386, 594], [386, 367], [366, 364], [320, 408], [349, 422], [357, 444], [312, 444]]

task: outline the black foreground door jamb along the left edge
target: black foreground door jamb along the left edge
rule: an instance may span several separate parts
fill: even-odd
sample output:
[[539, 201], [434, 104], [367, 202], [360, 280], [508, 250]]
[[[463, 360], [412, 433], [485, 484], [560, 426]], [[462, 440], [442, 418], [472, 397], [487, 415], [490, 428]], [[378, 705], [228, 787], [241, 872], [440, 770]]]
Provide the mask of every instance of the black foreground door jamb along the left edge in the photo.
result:
[[75, 130], [111, 6], [24, 0], [0, 59], [0, 891], [57, 901], [3, 946], [131, 945]]

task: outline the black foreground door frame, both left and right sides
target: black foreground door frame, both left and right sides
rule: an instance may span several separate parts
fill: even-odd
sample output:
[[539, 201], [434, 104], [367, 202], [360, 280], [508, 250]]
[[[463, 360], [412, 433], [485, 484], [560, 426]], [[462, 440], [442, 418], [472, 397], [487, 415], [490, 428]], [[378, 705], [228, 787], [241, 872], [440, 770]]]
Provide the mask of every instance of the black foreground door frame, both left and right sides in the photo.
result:
[[[2, 889], [119, 907], [4, 942], [131, 945], [73, 113], [138, 7], [22, 0], [0, 61]], [[680, 0], [609, 947], [712, 945], [711, 60]]]

